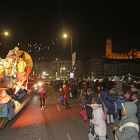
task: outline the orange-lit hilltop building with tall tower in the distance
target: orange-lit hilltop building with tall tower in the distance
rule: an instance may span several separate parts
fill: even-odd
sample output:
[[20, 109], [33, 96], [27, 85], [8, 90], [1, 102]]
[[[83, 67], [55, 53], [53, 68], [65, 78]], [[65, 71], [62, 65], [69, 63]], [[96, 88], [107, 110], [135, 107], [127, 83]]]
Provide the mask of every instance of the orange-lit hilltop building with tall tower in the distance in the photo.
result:
[[110, 59], [137, 59], [140, 58], [140, 51], [137, 51], [136, 48], [132, 48], [130, 53], [113, 53], [112, 52], [112, 41], [107, 39], [106, 41], [106, 58]]

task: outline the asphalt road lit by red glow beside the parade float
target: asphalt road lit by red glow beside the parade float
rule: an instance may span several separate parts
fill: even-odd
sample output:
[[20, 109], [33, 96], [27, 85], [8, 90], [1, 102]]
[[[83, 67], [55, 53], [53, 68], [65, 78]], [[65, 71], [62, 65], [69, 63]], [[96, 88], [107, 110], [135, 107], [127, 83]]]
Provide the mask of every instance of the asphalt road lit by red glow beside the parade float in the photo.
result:
[[[0, 130], [0, 140], [88, 140], [88, 121], [83, 122], [79, 109], [81, 100], [71, 101], [71, 109], [61, 107], [59, 91], [47, 87], [45, 110], [41, 111], [39, 96], [30, 102]], [[108, 136], [114, 139], [112, 126]]]

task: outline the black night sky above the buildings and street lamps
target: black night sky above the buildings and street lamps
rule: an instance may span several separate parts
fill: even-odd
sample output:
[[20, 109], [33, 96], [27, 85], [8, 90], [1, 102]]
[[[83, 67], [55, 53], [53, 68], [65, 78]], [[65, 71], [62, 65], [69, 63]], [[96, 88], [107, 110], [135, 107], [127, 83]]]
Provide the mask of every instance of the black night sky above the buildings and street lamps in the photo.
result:
[[[27, 44], [49, 46], [39, 53], [32, 47], [33, 58], [70, 57], [70, 38], [78, 59], [94, 54], [105, 55], [107, 38], [111, 38], [113, 52], [140, 51], [140, 5], [122, 0], [53, 0], [27, 1], [5, 0], [0, 4], [0, 56], [20, 43], [19, 48], [30, 50]], [[54, 45], [52, 43], [54, 42]]]

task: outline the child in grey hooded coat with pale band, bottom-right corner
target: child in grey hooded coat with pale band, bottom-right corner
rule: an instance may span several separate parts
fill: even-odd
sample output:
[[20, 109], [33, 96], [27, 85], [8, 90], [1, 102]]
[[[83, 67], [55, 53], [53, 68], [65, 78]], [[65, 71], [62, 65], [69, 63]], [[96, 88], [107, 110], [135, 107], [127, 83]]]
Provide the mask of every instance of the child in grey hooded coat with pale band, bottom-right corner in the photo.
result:
[[139, 140], [138, 119], [136, 117], [137, 106], [134, 102], [122, 103], [122, 118], [118, 127], [113, 126], [116, 131], [115, 140]]

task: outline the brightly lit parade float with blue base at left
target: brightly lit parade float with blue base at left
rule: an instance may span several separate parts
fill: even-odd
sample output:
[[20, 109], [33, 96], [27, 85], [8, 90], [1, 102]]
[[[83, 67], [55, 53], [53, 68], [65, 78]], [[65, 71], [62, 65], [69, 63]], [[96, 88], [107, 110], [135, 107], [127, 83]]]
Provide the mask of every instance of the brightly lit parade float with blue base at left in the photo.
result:
[[32, 98], [28, 77], [33, 67], [31, 56], [18, 47], [0, 58], [0, 128], [11, 120]]

